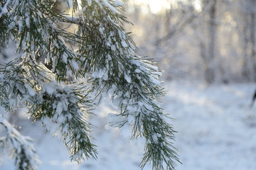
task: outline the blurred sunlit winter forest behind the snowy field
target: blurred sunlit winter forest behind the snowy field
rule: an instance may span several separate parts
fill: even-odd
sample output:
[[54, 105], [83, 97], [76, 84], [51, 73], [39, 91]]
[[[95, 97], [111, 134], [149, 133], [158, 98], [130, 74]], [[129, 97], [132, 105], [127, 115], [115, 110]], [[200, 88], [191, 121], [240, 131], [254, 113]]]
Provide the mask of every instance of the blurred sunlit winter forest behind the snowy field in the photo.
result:
[[164, 79], [256, 81], [256, 0], [127, 0], [139, 55]]

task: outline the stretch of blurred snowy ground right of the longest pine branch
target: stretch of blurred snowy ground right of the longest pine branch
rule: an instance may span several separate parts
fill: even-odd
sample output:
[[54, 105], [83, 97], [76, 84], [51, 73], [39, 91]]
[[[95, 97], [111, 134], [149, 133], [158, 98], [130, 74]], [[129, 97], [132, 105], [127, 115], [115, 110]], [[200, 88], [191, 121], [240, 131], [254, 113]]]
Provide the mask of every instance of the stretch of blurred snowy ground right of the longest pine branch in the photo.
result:
[[256, 169], [253, 84], [169, 84], [166, 111], [176, 117], [181, 169]]

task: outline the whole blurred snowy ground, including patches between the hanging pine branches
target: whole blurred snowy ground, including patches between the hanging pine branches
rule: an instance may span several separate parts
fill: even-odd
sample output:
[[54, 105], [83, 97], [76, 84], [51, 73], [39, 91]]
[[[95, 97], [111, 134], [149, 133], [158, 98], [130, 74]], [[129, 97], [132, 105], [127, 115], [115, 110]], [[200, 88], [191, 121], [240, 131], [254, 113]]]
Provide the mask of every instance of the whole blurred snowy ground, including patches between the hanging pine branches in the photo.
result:
[[[176, 165], [177, 170], [256, 169], [256, 103], [249, 107], [255, 89], [253, 84], [206, 87], [196, 83], [166, 83], [164, 108], [176, 118], [170, 122], [178, 131], [175, 145], [183, 162]], [[35, 147], [42, 162], [39, 170], [139, 169], [143, 147], [139, 142], [129, 142], [129, 137], [119, 130], [105, 128], [105, 115], [109, 112], [112, 108], [103, 106], [97, 118], [92, 119], [92, 124], [97, 125], [94, 133], [99, 152], [97, 161], [90, 159], [80, 165], [70, 163], [63, 143], [45, 135], [39, 124], [23, 122], [21, 133], [36, 139]], [[0, 157], [0, 164], [1, 170], [14, 169], [6, 157]]]

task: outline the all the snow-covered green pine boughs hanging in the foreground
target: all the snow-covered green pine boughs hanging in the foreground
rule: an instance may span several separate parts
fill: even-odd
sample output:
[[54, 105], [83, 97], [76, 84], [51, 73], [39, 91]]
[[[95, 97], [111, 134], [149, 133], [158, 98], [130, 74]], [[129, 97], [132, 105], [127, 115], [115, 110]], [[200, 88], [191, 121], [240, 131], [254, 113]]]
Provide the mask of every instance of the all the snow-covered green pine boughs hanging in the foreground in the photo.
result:
[[[21, 54], [0, 68], [0, 124], [18, 169], [36, 169], [38, 157], [31, 139], [6, 120], [6, 114], [27, 107], [28, 118], [41, 121], [47, 132], [58, 134], [71, 160], [97, 158], [87, 117], [102, 94], [112, 96], [119, 114], [113, 126], [132, 127], [131, 140], [144, 137], [140, 167], [174, 169], [178, 160], [172, 145], [174, 130], [160, 107], [164, 89], [161, 72], [136, 49], [123, 23], [124, 4], [112, 0], [63, 0], [71, 10], [55, 10], [50, 0], [1, 0], [0, 47], [10, 41]], [[72, 27], [72, 29], [68, 29]], [[14, 152], [12, 152], [14, 151]]]

